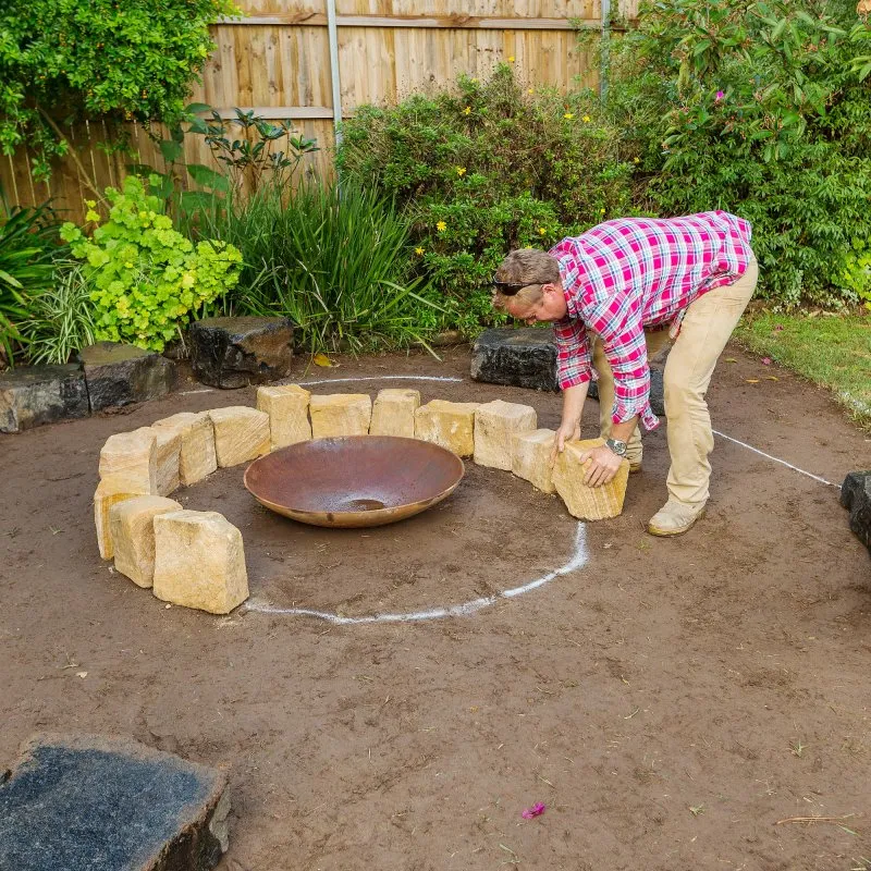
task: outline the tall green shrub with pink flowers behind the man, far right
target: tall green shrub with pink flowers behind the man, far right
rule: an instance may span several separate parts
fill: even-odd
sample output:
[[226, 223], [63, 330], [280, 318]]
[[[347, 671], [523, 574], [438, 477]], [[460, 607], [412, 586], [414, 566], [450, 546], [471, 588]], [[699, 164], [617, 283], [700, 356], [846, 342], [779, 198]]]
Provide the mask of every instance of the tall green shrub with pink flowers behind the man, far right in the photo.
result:
[[751, 221], [760, 293], [855, 303], [871, 238], [871, 68], [852, 0], [647, 3], [612, 42], [609, 113], [642, 156], [641, 205]]

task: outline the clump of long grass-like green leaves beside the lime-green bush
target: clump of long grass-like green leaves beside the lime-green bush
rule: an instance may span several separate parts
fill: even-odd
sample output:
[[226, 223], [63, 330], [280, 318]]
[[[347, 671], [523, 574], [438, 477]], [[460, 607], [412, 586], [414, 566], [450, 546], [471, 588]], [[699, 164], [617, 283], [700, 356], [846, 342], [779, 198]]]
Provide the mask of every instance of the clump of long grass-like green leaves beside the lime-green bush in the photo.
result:
[[237, 245], [245, 266], [224, 310], [284, 315], [312, 352], [426, 343], [438, 305], [409, 269], [408, 222], [348, 180], [268, 185], [201, 228]]

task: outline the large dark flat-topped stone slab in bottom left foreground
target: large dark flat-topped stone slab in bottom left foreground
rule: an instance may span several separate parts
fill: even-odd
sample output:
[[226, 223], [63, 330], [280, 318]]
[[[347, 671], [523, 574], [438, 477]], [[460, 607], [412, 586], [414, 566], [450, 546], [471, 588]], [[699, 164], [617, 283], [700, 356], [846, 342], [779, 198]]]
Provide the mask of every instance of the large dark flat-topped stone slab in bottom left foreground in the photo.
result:
[[36, 736], [0, 784], [0, 871], [207, 871], [226, 776], [125, 738]]

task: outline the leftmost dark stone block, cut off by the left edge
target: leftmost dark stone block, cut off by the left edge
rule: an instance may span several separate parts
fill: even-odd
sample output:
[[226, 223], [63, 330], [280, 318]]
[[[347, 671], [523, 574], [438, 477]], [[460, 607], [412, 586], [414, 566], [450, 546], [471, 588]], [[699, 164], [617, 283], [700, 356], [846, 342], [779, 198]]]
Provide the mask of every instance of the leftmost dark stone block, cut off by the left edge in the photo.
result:
[[87, 416], [85, 373], [76, 364], [23, 366], [0, 375], [0, 432]]

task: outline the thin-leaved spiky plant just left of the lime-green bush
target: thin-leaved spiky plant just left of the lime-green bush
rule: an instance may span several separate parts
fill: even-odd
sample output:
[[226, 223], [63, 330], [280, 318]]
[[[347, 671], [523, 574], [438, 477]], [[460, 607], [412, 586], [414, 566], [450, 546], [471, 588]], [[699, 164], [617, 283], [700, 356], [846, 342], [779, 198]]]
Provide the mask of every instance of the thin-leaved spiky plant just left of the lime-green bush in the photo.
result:
[[52, 286], [30, 303], [21, 332], [34, 364], [69, 363], [77, 351], [94, 344], [94, 304], [81, 262], [62, 260], [56, 265]]

